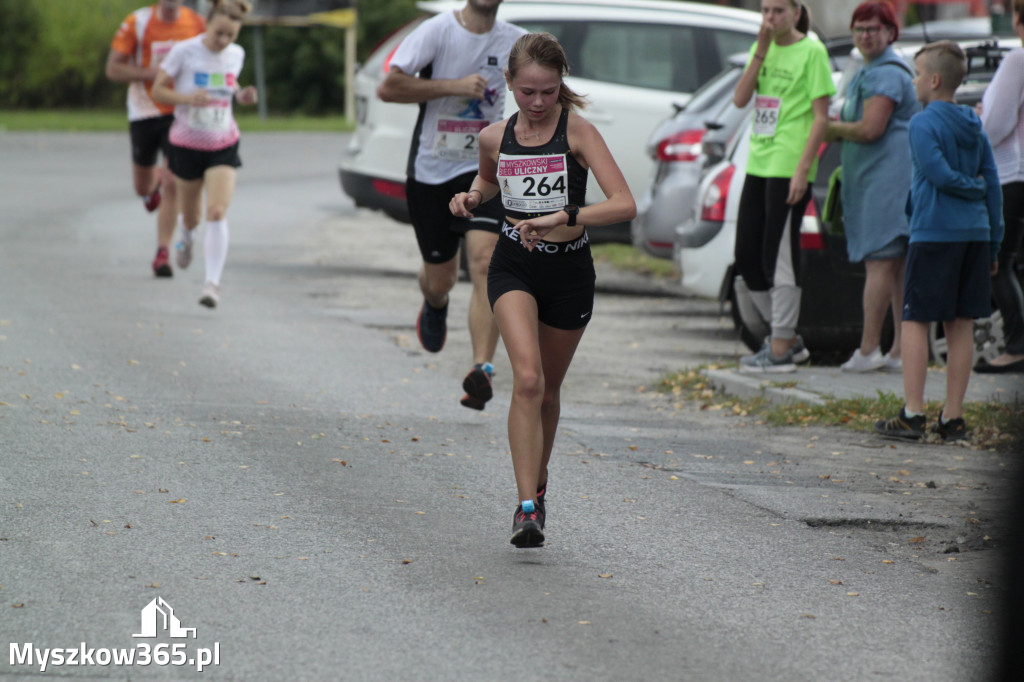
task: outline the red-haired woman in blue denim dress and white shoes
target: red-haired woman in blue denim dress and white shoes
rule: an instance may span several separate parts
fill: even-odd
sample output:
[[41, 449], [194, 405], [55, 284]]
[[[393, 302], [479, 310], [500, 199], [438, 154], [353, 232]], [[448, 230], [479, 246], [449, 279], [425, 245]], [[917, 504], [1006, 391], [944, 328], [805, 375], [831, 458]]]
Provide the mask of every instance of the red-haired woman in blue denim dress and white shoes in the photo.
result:
[[[847, 90], [827, 139], [843, 140], [843, 214], [851, 262], [864, 262], [864, 326], [844, 372], [899, 372], [903, 266], [910, 228], [910, 117], [920, 111], [913, 73], [892, 43], [899, 27], [889, 2], [862, 2], [850, 22], [864, 66]], [[893, 344], [882, 354], [882, 328], [892, 309]]]

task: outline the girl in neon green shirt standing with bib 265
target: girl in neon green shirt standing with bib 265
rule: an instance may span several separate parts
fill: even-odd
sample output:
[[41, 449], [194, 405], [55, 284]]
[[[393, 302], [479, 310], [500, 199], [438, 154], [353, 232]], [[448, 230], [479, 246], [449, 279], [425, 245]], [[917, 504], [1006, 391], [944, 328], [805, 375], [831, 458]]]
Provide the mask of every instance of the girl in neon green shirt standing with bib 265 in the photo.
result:
[[811, 199], [818, 147], [836, 92], [828, 53], [808, 35], [799, 0], [762, 0], [764, 22], [733, 100], [755, 99], [746, 179], [736, 223], [736, 270], [771, 340], [740, 358], [748, 373], [795, 372], [809, 357], [797, 336], [800, 317], [800, 223]]

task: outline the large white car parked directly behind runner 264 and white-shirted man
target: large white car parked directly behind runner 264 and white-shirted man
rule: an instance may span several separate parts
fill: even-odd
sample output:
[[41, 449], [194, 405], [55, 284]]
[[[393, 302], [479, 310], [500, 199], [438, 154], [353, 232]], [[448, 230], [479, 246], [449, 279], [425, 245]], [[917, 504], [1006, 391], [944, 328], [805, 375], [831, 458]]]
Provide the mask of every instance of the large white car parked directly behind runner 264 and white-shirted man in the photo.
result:
[[[464, 5], [464, 0], [418, 3], [431, 14]], [[757, 12], [666, 0], [504, 0], [498, 16], [558, 38], [569, 60], [567, 83], [590, 100], [584, 116], [601, 131], [637, 198], [653, 170], [645, 153], [650, 131], [673, 104], [685, 103], [722, 71], [728, 55], [749, 49], [761, 26]], [[417, 108], [383, 102], [376, 93], [398, 43], [422, 20], [396, 31], [357, 72], [357, 126], [338, 169], [342, 188], [357, 206], [404, 221], [406, 165]], [[514, 106], [506, 97], [506, 115]], [[603, 198], [593, 178], [587, 197]]]

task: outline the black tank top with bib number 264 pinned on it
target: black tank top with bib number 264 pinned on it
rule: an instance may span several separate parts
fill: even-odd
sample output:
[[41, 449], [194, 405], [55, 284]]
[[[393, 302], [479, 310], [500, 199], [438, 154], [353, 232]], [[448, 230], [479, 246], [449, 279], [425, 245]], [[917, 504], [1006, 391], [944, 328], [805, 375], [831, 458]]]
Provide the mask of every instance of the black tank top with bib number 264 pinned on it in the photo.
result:
[[583, 206], [587, 199], [587, 169], [569, 150], [569, 110], [562, 109], [555, 134], [540, 146], [523, 146], [515, 138], [516, 112], [505, 124], [498, 150], [498, 186], [505, 215], [526, 219], [555, 213], [566, 206]]

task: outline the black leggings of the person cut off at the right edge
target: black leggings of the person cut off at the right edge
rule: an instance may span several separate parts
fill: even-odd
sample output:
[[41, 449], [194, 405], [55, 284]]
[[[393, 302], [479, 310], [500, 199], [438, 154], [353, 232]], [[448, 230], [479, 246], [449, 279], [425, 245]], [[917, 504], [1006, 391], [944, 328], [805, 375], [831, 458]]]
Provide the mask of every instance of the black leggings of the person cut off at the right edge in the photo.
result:
[[1007, 231], [999, 248], [999, 271], [992, 278], [992, 298], [1002, 313], [1007, 352], [1024, 355], [1024, 295], [1015, 267], [1024, 236], [1024, 182], [1002, 185], [1002, 221]]

